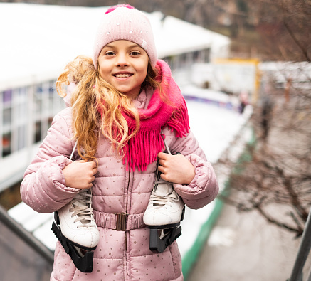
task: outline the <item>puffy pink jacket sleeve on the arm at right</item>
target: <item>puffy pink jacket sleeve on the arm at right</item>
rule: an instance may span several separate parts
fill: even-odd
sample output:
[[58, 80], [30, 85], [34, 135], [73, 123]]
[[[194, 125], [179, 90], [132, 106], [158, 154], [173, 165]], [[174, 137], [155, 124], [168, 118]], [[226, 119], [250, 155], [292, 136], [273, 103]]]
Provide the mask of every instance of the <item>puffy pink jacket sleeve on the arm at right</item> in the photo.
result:
[[172, 153], [180, 152], [194, 166], [195, 176], [190, 184], [174, 184], [174, 189], [183, 198], [189, 208], [202, 208], [213, 201], [219, 191], [216, 174], [206, 160], [206, 156], [199, 146], [192, 132], [186, 137], [175, 138]]

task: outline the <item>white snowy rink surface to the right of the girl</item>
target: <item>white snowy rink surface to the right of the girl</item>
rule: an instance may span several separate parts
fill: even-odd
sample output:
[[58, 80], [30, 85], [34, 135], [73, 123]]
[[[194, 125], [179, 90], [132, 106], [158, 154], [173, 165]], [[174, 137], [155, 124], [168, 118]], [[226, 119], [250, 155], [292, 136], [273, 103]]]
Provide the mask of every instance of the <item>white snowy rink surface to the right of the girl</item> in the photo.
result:
[[[196, 92], [192, 94], [195, 96]], [[199, 97], [201, 97], [201, 93]], [[213, 98], [215, 101], [217, 100], [216, 95]], [[206, 102], [210, 102], [210, 100], [206, 100]], [[221, 157], [221, 154], [228, 149], [233, 139], [241, 133], [241, 128], [251, 115], [251, 108], [248, 107], [245, 114], [241, 115], [234, 110], [228, 110], [225, 107], [218, 107], [206, 102], [187, 100], [186, 103], [189, 110], [191, 131], [194, 132], [196, 139], [198, 139], [208, 161], [214, 164]], [[247, 138], [249, 139], [249, 137], [248, 134]], [[243, 147], [239, 146], [238, 148], [238, 154], [240, 154]], [[235, 159], [238, 154], [235, 155]], [[220, 189], [223, 189], [225, 181], [226, 175], [218, 179]], [[181, 222], [182, 235], [177, 240], [181, 257], [184, 257], [194, 244], [201, 226], [211, 215], [214, 206], [215, 202], [211, 202], [199, 210], [186, 208], [184, 221]]]

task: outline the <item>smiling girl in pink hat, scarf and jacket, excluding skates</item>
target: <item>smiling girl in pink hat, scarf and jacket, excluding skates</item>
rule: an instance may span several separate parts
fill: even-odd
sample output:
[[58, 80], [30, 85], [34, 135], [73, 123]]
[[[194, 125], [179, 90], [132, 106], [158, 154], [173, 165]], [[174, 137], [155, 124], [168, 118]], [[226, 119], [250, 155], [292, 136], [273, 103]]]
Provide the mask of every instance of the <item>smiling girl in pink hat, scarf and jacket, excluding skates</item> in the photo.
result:
[[[63, 83], [70, 83], [71, 107], [54, 118], [26, 170], [21, 196], [34, 210], [50, 213], [91, 187], [99, 241], [91, 273], [77, 270], [57, 243], [51, 280], [183, 280], [176, 241], [163, 253], [149, 250], [143, 216], [156, 160], [161, 178], [174, 183], [189, 208], [213, 201], [218, 184], [189, 132], [186, 103], [169, 66], [157, 60], [147, 17], [132, 6], [109, 9], [93, 60], [69, 63], [58, 79], [60, 95]], [[164, 139], [172, 154], [181, 154], [164, 153]], [[72, 152], [77, 161], [69, 159]]]

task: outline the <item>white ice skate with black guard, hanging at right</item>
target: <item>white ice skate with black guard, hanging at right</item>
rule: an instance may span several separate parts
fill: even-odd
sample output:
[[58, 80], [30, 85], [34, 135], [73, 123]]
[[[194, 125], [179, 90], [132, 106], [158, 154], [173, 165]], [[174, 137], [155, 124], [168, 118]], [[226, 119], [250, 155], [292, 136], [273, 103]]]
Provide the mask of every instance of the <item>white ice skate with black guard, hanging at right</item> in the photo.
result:
[[180, 221], [184, 219], [184, 202], [173, 184], [160, 178], [157, 170], [154, 189], [144, 212], [144, 223], [150, 228], [149, 248], [162, 253], [181, 235]]

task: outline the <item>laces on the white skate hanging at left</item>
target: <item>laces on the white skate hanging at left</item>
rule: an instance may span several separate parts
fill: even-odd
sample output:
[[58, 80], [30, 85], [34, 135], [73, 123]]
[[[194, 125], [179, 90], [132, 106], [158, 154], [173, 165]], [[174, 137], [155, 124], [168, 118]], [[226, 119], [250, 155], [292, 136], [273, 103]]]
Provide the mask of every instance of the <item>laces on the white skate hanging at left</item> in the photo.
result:
[[75, 223], [81, 222], [78, 228], [88, 227], [92, 221], [95, 221], [93, 218], [93, 208], [90, 207], [91, 203], [92, 194], [88, 193], [88, 189], [82, 189], [71, 201], [73, 208], [70, 208], [69, 211], [73, 212], [71, 217], [78, 216], [74, 221]]

